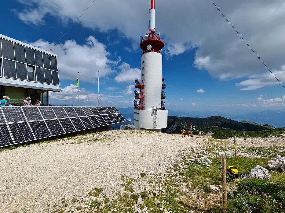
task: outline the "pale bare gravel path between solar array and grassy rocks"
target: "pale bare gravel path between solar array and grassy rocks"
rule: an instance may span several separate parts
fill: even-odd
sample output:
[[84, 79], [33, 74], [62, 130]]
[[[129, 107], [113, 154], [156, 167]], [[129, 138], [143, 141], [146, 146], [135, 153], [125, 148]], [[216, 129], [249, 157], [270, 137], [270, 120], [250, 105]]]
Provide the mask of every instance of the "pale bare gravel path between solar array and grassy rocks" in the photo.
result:
[[[76, 141], [84, 142], [71, 144]], [[1, 152], [0, 212], [49, 212], [61, 197], [85, 196], [95, 187], [112, 197], [123, 189], [121, 175], [138, 179], [141, 172], [162, 173], [177, 151], [198, 143], [204, 142], [117, 130]]]

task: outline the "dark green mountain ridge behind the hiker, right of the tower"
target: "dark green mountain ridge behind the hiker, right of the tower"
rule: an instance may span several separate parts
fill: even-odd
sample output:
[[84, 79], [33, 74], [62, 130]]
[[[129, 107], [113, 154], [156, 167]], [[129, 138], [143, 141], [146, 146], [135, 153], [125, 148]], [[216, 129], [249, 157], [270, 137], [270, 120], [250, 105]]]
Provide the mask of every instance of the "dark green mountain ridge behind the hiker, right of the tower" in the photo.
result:
[[162, 132], [177, 133], [180, 132], [181, 129], [188, 129], [189, 123], [192, 123], [196, 129], [199, 129], [199, 127], [222, 127], [237, 131], [268, 130], [268, 127], [242, 123], [221, 116], [211, 116], [207, 118], [168, 116], [168, 125], [162, 129]]

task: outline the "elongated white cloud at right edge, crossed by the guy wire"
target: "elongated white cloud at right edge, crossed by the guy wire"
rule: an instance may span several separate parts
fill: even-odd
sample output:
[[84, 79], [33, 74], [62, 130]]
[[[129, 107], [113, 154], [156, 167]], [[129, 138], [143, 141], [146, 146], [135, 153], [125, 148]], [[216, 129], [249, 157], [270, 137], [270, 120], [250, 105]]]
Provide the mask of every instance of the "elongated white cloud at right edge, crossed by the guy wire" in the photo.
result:
[[[279, 79], [281, 83], [285, 82], [285, 65], [281, 66], [281, 71], [275, 70], [272, 71], [272, 73], [276, 76], [277, 79]], [[243, 86], [243, 88], [241, 88], [240, 90], [256, 90], [264, 86], [280, 84], [272, 75], [272, 73], [268, 71], [263, 74], [250, 75], [250, 79], [236, 83], [236, 85]]]

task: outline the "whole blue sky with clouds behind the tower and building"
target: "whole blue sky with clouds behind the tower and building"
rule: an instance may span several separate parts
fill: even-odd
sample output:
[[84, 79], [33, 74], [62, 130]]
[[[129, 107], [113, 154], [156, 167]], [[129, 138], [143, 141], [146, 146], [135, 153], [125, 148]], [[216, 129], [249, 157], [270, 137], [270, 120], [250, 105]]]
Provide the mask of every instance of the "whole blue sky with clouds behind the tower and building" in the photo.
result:
[[[11, 0], [2, 3], [0, 33], [57, 54], [58, 93], [49, 102], [130, 107], [141, 76], [140, 36], [148, 0]], [[285, 85], [285, 2], [213, 1]], [[156, 30], [165, 41], [166, 109], [222, 112], [285, 108], [285, 89], [210, 0], [156, 0]], [[56, 44], [56, 42], [64, 37]], [[55, 45], [56, 44], [56, 45]], [[55, 46], [54, 46], [55, 45]], [[54, 47], [53, 47], [54, 46]]]

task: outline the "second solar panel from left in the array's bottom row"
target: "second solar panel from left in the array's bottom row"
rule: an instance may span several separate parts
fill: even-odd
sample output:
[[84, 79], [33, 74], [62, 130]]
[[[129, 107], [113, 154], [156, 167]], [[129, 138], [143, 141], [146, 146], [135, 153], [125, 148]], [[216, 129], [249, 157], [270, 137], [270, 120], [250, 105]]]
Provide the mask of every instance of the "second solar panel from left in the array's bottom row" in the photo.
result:
[[27, 122], [8, 124], [16, 143], [35, 140]]

